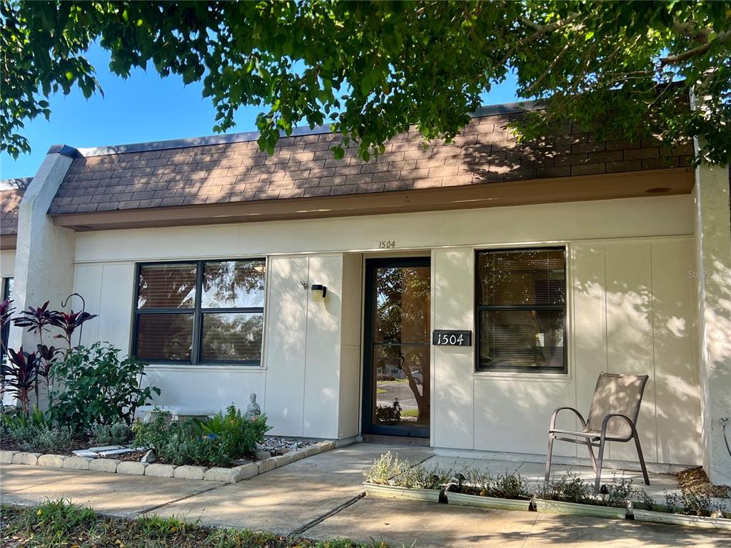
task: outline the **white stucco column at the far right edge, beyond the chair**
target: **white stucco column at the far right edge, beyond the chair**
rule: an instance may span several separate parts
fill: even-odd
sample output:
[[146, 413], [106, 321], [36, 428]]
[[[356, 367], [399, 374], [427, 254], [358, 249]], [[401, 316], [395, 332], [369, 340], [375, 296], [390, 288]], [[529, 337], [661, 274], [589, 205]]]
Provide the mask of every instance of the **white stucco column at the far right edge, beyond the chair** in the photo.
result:
[[[701, 164], [695, 175], [695, 243], [703, 467], [731, 485], [723, 422], [731, 417], [731, 221], [727, 166]], [[731, 421], [726, 427], [731, 443]]]

